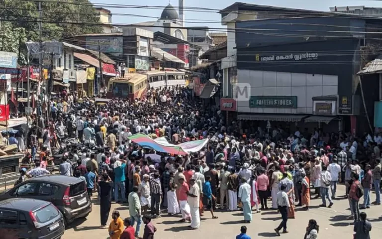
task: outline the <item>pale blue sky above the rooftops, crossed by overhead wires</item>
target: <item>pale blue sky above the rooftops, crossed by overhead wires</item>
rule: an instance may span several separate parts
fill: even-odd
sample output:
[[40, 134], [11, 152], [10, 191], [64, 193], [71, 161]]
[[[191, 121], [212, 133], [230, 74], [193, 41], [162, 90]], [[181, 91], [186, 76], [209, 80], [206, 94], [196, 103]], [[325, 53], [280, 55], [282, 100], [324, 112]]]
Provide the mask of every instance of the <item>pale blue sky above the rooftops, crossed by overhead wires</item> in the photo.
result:
[[[91, 0], [93, 3], [105, 4], [131, 4], [131, 5], [148, 5], [148, 6], [166, 6], [169, 0]], [[222, 9], [234, 3], [234, 0], [185, 0], [187, 7], [205, 7]], [[328, 11], [330, 6], [374, 6], [382, 7], [382, 0], [256, 0], [256, 1], [243, 1], [247, 3], [274, 5], [292, 8], [303, 8], [311, 10]], [[178, 0], [170, 0], [173, 6], [178, 5]], [[107, 8], [107, 7], [105, 7]], [[154, 21], [156, 18], [151, 17], [136, 17], [136, 16], [121, 16], [116, 13], [124, 14], [137, 14], [145, 16], [159, 17], [162, 10], [160, 9], [136, 9], [136, 8], [107, 8], [114, 13], [112, 17], [113, 23], [131, 24], [142, 21]], [[220, 22], [220, 14], [211, 12], [195, 12], [186, 11], [186, 26], [209, 26], [209, 27], [223, 27]], [[214, 21], [214, 22], [211, 22]], [[197, 23], [196, 23], [197, 22]], [[206, 23], [207, 22], [207, 23]]]

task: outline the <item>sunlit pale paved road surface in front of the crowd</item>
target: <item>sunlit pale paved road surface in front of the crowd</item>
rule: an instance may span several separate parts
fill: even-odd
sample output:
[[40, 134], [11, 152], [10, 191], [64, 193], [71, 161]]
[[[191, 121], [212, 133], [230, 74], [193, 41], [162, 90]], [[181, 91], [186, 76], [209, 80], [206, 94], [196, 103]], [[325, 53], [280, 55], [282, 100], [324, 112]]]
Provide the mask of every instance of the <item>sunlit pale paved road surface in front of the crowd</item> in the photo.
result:
[[[344, 186], [339, 186], [338, 195], [344, 195]], [[372, 202], [375, 200], [375, 194], [371, 195]], [[363, 200], [361, 199], [361, 202]], [[334, 238], [352, 238], [352, 221], [346, 220], [350, 214], [348, 210], [348, 201], [345, 199], [335, 200], [332, 208], [318, 208], [321, 200], [311, 200], [310, 211], [297, 211], [296, 219], [288, 220], [289, 234], [282, 234], [283, 239], [303, 238], [305, 228], [309, 219], [315, 219], [320, 231], [318, 237], [321, 239]], [[112, 204], [112, 209], [120, 211], [122, 218], [128, 216], [126, 206]], [[299, 209], [297, 209], [299, 210]], [[382, 234], [382, 206], [372, 206], [366, 210], [368, 218], [372, 222], [373, 230], [372, 238], [377, 238]], [[177, 222], [180, 218], [163, 216], [160, 219], [154, 219], [153, 222], [157, 227], [155, 238], [157, 239], [200, 239], [205, 237], [219, 237], [224, 239], [234, 239], [240, 233], [240, 226], [246, 225], [247, 234], [252, 239], [275, 237], [273, 229], [281, 222], [281, 216], [276, 211], [264, 211], [253, 214], [251, 224], [243, 224], [242, 212], [217, 212], [218, 219], [212, 220], [210, 213], [204, 214], [205, 220], [201, 221], [198, 230], [188, 231], [187, 223]], [[110, 214], [111, 216], [111, 214]], [[66, 230], [64, 239], [82, 239], [82, 238], [107, 238], [106, 229], [99, 229], [99, 206], [95, 205], [92, 214], [87, 220], [75, 221], [72, 228]], [[143, 234], [143, 227], [140, 235]]]

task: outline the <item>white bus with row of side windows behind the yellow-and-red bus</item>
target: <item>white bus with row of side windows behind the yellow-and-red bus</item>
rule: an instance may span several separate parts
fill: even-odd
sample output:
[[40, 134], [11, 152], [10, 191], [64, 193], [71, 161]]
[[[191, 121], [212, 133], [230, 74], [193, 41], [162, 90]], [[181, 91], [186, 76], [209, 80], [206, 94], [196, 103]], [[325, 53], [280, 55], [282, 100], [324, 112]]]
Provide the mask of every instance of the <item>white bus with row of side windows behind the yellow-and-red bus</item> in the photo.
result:
[[147, 75], [150, 88], [186, 86], [187, 75], [181, 71], [148, 71]]

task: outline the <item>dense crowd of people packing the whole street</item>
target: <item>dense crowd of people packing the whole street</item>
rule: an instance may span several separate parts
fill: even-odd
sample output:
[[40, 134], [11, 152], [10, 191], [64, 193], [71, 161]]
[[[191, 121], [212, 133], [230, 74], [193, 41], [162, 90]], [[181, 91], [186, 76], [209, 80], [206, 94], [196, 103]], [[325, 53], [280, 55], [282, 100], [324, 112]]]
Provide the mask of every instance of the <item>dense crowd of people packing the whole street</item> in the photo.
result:
[[[360, 209], [381, 205], [382, 134], [355, 137], [317, 128], [286, 132], [280, 126], [267, 131], [252, 124], [243, 130], [235, 121], [226, 124], [218, 109], [204, 106], [190, 89], [178, 86], [151, 89], [140, 101], [114, 99], [107, 104], [65, 91], [50, 104], [55, 125], [45, 126], [40, 116], [31, 119], [44, 128], [44, 143], [39, 157], [36, 150], [27, 155], [36, 167], [23, 175], [49, 173], [52, 150], [65, 136], [94, 144], [93, 149], [64, 150], [59, 173], [84, 178], [89, 196], [98, 192], [101, 227], [107, 228], [112, 201], [129, 206], [127, 219], [112, 213], [112, 239], [138, 237], [142, 221], [143, 238], [153, 238], [151, 219], [163, 212], [181, 215], [180, 222], [196, 230], [205, 211], [217, 219], [215, 210], [241, 210], [243, 223], [252, 221], [252, 210], [278, 210], [282, 222], [275, 232], [280, 235], [288, 232], [287, 221], [296, 217], [295, 208], [309, 210], [312, 198], [321, 198], [321, 207], [332, 207], [339, 183], [346, 185], [344, 198], [355, 222], [355, 238], [364, 239], [371, 224]], [[209, 141], [199, 152], [180, 156], [140, 147], [129, 138], [135, 133], [166, 137], [174, 144]], [[29, 136], [28, 145], [35, 147]], [[371, 203], [373, 187], [377, 200]], [[310, 220], [305, 238], [317, 238], [318, 229]], [[246, 231], [243, 226], [237, 239], [248, 239]]]

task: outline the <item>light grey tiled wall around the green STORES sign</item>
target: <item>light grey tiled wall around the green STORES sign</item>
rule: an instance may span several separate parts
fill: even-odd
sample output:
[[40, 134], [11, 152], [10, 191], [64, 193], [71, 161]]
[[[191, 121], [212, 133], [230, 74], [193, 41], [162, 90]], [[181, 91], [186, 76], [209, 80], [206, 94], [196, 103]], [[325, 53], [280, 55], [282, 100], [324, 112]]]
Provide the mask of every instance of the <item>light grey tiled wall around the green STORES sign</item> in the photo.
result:
[[250, 84], [251, 96], [297, 96], [296, 109], [249, 108], [248, 101], [238, 101], [238, 112], [313, 114], [312, 97], [338, 91], [338, 77], [331, 75], [238, 69], [237, 78], [239, 84]]

